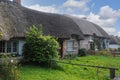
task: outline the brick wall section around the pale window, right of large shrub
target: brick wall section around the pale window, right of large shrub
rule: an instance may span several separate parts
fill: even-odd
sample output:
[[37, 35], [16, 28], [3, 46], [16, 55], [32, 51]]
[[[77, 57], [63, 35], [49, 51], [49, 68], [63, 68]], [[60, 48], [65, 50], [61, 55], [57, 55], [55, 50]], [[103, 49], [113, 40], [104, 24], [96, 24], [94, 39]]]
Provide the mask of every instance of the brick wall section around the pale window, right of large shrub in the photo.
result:
[[70, 55], [70, 54], [78, 54], [78, 41], [77, 40], [72, 40], [74, 42], [74, 50], [73, 51], [68, 51], [68, 41], [69, 40], [64, 40], [63, 42], [63, 55]]

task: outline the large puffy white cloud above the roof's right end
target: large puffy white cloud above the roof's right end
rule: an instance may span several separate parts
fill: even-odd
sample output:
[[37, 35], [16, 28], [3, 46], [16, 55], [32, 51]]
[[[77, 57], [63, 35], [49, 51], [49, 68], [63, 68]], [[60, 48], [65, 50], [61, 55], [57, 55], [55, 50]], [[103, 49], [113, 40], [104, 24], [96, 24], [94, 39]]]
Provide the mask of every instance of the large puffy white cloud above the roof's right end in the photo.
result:
[[87, 19], [100, 25], [109, 34], [117, 34], [115, 24], [120, 18], [120, 10], [113, 10], [109, 6], [103, 6], [97, 14], [90, 13]]

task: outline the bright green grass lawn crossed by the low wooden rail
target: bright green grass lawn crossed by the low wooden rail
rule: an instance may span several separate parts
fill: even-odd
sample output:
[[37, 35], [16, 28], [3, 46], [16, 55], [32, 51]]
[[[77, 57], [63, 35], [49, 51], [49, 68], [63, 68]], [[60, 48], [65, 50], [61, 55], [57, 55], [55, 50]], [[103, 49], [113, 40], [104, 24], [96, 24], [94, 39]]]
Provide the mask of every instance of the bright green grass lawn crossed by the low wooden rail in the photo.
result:
[[[120, 69], [120, 57], [86, 56], [62, 60], [75, 64], [116, 67]], [[97, 69], [59, 63], [62, 69], [47, 69], [24, 65], [20, 68], [20, 80], [109, 80], [108, 69]], [[116, 71], [116, 75], [120, 70]]]

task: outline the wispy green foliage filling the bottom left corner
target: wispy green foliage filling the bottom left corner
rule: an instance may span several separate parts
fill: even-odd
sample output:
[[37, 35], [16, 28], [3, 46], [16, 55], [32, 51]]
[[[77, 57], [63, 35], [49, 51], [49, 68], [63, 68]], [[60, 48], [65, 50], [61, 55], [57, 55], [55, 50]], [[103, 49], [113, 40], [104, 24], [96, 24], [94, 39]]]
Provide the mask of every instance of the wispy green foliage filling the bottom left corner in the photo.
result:
[[0, 62], [0, 80], [18, 80], [19, 70], [17, 67], [17, 61], [12, 60], [11, 55], [2, 54]]

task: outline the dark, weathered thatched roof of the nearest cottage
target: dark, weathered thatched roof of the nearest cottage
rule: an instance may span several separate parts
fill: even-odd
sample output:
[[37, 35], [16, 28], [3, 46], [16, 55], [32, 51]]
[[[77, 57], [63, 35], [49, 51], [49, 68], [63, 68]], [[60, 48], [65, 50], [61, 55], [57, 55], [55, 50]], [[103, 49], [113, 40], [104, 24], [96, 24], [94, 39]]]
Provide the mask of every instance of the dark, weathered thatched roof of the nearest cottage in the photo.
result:
[[43, 25], [44, 35], [58, 38], [78, 35], [79, 39], [83, 39], [78, 25], [68, 17], [31, 10], [7, 0], [0, 1], [0, 30], [3, 33], [3, 39], [25, 37], [29, 26], [40, 24]]

